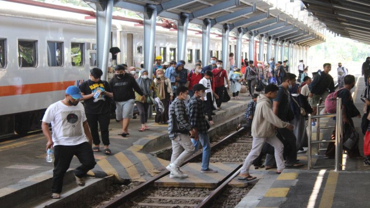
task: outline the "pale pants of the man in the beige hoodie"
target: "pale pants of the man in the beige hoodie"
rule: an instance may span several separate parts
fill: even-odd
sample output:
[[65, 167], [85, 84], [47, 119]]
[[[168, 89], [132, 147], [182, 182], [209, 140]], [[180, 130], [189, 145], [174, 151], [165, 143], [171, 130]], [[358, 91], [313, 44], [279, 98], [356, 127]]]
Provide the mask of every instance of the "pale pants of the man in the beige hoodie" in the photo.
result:
[[250, 150], [247, 158], [244, 161], [242, 170], [240, 173], [249, 174], [249, 167], [252, 165], [253, 160], [255, 160], [258, 155], [261, 153], [263, 144], [267, 142], [274, 147], [275, 150], [275, 160], [277, 170], [281, 171], [285, 168], [284, 159], [283, 159], [283, 143], [276, 137], [253, 137], [252, 150]]

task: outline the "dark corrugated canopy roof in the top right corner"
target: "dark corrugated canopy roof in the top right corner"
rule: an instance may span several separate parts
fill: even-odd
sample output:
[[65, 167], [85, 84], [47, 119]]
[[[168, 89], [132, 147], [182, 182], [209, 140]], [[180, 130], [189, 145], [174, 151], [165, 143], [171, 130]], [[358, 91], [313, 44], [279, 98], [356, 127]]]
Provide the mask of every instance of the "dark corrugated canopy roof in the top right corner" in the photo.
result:
[[370, 44], [369, 0], [302, 0], [313, 16], [341, 37]]

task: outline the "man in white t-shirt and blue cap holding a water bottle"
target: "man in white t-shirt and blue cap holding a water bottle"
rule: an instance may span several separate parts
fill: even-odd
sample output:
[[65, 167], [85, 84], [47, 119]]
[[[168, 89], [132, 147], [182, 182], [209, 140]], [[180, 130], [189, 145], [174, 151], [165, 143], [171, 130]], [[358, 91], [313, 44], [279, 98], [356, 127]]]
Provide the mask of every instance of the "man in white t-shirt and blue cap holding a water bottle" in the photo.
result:
[[[73, 172], [77, 184], [85, 185], [87, 171], [94, 168], [96, 162], [92, 152], [92, 137], [85, 116], [84, 106], [79, 102], [81, 91], [76, 86], [65, 90], [64, 100], [51, 104], [45, 112], [41, 128], [47, 139], [46, 149], [54, 149], [53, 184], [51, 198], [59, 199], [62, 192], [63, 178], [74, 155], [82, 163]], [[50, 134], [49, 124], [53, 135]]]

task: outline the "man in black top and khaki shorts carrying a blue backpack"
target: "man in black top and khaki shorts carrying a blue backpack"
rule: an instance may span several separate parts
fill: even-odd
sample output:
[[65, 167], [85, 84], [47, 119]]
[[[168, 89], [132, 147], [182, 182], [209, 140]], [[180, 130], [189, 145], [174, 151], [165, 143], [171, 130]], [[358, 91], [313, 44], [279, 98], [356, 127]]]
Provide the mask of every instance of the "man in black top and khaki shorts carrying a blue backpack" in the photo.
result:
[[[329, 93], [335, 91], [333, 77], [329, 74], [329, 71], [332, 70], [332, 64], [325, 63], [323, 69], [323, 71], [318, 70], [317, 73], [315, 73], [312, 83], [308, 86], [310, 89], [308, 102], [312, 107], [313, 115], [316, 112], [316, 105], [320, 102], [320, 98], [325, 100]], [[314, 121], [312, 125], [315, 125]]]

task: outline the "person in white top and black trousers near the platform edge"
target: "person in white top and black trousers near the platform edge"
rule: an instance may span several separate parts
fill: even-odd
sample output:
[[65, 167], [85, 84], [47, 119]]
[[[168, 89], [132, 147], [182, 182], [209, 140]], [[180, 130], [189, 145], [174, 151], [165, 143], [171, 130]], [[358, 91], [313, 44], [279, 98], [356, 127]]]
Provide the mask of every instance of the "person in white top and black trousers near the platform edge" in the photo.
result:
[[213, 77], [212, 71], [205, 71], [204, 77], [199, 81], [199, 84], [204, 85], [204, 87], [207, 87], [208, 89], [205, 90], [205, 93], [203, 94], [203, 110], [208, 116], [209, 124], [213, 125], [215, 124], [213, 122], [212, 118], [212, 95], [214, 94], [215, 97], [218, 99], [218, 95], [213, 93], [212, 86], [211, 86], [211, 78]]

